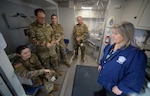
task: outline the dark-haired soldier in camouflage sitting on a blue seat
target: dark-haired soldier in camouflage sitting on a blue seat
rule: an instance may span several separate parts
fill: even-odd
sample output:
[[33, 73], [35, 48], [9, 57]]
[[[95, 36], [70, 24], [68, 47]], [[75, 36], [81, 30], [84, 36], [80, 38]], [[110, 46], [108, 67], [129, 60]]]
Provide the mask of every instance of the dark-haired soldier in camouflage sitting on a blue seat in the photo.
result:
[[17, 47], [16, 53], [18, 58], [14, 60], [13, 66], [17, 75], [32, 79], [33, 86], [44, 85], [47, 93], [58, 90], [58, 87], [54, 86], [54, 81], [58, 78], [55, 71], [44, 69], [37, 56], [32, 54], [27, 46]]

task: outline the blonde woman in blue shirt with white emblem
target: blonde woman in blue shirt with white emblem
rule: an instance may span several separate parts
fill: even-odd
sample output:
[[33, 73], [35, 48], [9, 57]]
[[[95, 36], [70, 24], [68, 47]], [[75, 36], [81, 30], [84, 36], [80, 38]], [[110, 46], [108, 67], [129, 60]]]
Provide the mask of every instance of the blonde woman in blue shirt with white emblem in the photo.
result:
[[115, 24], [112, 44], [104, 49], [98, 66], [98, 83], [103, 86], [94, 96], [126, 96], [140, 92], [145, 78], [147, 57], [133, 43], [134, 26], [130, 22]]

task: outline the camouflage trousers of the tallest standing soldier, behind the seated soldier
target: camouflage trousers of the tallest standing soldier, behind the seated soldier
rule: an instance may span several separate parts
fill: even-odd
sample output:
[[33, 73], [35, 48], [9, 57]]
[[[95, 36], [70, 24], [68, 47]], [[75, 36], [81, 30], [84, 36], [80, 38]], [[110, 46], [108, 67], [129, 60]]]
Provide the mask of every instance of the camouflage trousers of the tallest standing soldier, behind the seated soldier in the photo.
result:
[[39, 59], [45, 68], [58, 69], [58, 55], [55, 49], [55, 46], [51, 46], [49, 49], [37, 50]]

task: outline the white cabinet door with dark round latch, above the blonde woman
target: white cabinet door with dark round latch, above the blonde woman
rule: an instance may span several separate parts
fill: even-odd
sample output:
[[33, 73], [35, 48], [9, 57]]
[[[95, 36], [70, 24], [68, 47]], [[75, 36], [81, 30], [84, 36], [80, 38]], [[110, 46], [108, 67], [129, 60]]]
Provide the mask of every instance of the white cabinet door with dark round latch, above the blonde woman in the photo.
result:
[[126, 0], [121, 21], [137, 24], [138, 14], [144, 0]]

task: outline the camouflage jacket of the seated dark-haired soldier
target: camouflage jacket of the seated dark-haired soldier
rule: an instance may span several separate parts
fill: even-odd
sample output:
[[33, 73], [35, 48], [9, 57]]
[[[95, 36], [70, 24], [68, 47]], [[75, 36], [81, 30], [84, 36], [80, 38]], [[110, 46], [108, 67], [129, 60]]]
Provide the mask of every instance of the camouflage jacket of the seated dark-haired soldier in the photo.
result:
[[17, 75], [32, 79], [35, 85], [42, 84], [39, 76], [44, 74], [44, 67], [35, 54], [31, 54], [28, 60], [22, 60], [20, 57], [16, 58], [13, 66]]

